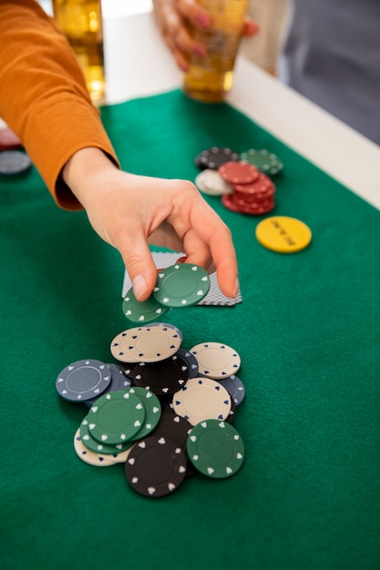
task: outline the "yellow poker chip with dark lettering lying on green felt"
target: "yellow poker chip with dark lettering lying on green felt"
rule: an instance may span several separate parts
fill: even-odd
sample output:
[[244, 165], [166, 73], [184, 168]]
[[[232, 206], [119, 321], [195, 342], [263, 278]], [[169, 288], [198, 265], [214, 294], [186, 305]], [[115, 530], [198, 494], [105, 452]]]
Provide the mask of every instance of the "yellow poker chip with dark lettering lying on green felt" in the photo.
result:
[[272, 251], [295, 253], [307, 248], [312, 240], [312, 231], [300, 219], [271, 216], [257, 225], [256, 239]]

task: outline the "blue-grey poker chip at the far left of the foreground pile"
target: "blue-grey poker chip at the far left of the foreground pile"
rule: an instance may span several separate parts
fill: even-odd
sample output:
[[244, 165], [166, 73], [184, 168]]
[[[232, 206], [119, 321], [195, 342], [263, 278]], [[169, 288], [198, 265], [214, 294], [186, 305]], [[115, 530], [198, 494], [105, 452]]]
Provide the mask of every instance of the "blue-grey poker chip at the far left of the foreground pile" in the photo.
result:
[[76, 361], [64, 368], [56, 379], [56, 391], [70, 402], [86, 402], [108, 389], [111, 372], [102, 361]]

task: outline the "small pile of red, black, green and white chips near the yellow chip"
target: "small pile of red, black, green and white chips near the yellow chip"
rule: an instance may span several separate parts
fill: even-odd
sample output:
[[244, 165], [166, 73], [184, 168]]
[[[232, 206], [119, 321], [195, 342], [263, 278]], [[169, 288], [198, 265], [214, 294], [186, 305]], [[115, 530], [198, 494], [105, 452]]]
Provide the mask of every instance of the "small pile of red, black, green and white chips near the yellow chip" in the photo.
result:
[[240, 155], [231, 148], [203, 150], [195, 164], [201, 172], [195, 184], [201, 192], [221, 196], [225, 208], [261, 216], [275, 207], [272, 177], [282, 172], [282, 162], [266, 149], [250, 148]]

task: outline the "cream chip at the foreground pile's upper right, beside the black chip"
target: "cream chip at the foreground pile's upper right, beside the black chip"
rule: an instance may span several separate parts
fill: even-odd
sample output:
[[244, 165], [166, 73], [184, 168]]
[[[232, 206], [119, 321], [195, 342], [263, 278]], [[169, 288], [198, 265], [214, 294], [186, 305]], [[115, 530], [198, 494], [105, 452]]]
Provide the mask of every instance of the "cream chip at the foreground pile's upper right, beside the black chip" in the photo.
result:
[[200, 375], [219, 380], [239, 371], [241, 357], [227, 344], [202, 342], [190, 349], [198, 361]]

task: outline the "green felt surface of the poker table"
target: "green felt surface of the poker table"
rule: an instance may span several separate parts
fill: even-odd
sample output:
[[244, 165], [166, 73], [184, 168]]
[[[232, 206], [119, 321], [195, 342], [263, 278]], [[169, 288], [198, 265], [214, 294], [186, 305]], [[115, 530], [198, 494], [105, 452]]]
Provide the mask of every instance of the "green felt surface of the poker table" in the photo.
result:
[[[79, 460], [87, 407], [60, 398], [56, 377], [74, 361], [114, 361], [110, 341], [134, 326], [124, 267], [85, 212], [56, 207], [35, 168], [3, 177], [2, 569], [378, 570], [380, 212], [227, 103], [174, 90], [101, 115], [122, 168], [138, 174], [194, 180], [194, 158], [212, 146], [283, 161], [270, 214], [206, 197], [231, 229], [242, 302], [165, 315], [184, 348], [218, 341], [241, 355], [245, 461], [230, 478], [199, 474], [150, 499], [123, 464]], [[310, 246], [264, 249], [255, 228], [270, 215], [303, 220]]]

